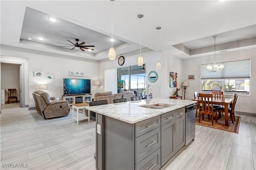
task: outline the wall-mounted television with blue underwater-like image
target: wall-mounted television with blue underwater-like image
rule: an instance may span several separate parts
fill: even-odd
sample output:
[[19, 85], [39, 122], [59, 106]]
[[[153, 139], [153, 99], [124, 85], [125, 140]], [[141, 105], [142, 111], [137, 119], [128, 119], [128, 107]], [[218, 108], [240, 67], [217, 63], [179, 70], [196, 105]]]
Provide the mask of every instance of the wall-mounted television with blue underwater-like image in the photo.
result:
[[90, 79], [63, 79], [63, 94], [76, 95], [91, 93]]

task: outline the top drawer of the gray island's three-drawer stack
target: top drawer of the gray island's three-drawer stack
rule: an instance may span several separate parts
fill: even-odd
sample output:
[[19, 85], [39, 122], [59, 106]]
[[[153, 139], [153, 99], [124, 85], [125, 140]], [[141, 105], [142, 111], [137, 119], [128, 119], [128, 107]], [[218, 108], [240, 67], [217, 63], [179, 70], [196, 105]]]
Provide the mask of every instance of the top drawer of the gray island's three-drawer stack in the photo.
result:
[[160, 127], [160, 115], [135, 124], [135, 137]]

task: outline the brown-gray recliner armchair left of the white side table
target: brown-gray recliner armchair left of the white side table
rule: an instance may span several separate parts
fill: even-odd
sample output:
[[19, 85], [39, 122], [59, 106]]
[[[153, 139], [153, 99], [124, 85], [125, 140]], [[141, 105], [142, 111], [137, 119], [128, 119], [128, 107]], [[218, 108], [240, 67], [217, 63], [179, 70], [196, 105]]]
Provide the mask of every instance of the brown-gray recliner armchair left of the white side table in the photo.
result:
[[70, 111], [68, 101], [56, 101], [55, 97], [50, 97], [45, 91], [37, 90], [32, 95], [36, 110], [44, 119], [66, 116]]

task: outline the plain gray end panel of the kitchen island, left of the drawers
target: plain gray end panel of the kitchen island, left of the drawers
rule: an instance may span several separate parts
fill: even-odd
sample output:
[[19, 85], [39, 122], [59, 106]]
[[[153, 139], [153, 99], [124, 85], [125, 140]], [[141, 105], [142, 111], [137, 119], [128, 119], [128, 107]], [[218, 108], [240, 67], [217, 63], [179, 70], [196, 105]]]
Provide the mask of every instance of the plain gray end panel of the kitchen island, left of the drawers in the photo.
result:
[[134, 169], [134, 124], [104, 116], [104, 169]]

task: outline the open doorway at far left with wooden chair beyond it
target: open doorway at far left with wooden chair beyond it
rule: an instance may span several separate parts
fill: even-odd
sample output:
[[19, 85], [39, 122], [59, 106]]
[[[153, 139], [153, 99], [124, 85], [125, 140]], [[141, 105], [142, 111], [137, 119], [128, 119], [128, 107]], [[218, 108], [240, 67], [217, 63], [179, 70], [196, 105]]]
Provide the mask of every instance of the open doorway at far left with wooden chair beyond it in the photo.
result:
[[[1, 62], [1, 110], [22, 107], [21, 67], [21, 64]], [[15, 100], [10, 100], [10, 104], [7, 104], [8, 89], [16, 89], [18, 103]]]

